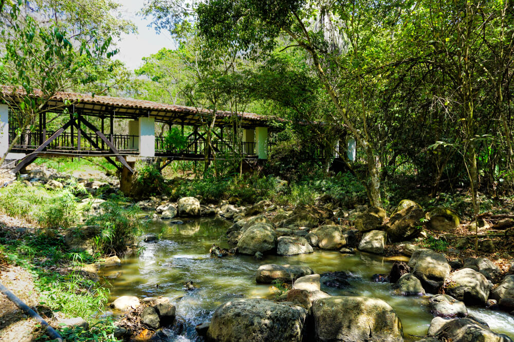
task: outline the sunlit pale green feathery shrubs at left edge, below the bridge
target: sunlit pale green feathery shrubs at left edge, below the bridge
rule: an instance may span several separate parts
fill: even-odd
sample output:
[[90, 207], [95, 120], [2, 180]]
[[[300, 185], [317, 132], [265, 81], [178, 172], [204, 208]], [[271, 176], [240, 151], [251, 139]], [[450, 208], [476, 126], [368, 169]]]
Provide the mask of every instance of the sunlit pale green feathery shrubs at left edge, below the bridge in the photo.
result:
[[77, 222], [77, 202], [70, 188], [47, 190], [15, 182], [0, 189], [0, 211], [43, 227], [73, 226]]

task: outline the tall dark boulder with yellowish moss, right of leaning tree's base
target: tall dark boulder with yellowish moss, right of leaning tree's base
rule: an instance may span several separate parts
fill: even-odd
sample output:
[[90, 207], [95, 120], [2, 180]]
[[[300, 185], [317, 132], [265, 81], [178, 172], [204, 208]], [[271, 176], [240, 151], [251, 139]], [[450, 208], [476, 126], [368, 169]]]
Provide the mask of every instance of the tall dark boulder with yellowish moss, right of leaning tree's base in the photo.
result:
[[409, 240], [416, 237], [420, 230], [420, 219], [425, 217], [425, 212], [418, 205], [396, 211], [386, 225], [386, 232], [391, 242]]

